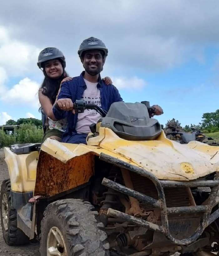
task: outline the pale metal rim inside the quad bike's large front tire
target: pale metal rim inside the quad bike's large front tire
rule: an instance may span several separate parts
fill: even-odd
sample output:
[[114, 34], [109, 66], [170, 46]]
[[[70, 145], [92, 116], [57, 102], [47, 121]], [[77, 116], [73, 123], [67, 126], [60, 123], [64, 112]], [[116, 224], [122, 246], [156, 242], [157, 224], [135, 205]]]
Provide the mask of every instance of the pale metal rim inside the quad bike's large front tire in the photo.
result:
[[58, 227], [51, 227], [47, 237], [47, 256], [67, 256], [63, 235]]

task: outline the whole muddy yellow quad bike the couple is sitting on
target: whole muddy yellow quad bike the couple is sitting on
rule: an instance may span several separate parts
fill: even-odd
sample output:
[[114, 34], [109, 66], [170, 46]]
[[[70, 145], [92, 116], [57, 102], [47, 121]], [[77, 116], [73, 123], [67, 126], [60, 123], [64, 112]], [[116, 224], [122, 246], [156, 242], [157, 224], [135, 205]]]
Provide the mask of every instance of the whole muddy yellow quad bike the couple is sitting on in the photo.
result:
[[166, 138], [147, 102], [113, 103], [85, 144], [5, 148], [1, 223], [10, 245], [41, 256], [219, 251], [219, 147]]

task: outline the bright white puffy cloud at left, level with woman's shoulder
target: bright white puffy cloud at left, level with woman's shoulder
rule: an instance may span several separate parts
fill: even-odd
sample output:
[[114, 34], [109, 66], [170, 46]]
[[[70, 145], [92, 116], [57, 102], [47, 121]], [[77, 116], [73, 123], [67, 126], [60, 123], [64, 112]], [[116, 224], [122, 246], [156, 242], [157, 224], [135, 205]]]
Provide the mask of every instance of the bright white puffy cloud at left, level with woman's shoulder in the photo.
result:
[[2, 101], [10, 102], [11, 105], [27, 105], [39, 107], [38, 100], [39, 84], [28, 77], [20, 80], [1, 97]]

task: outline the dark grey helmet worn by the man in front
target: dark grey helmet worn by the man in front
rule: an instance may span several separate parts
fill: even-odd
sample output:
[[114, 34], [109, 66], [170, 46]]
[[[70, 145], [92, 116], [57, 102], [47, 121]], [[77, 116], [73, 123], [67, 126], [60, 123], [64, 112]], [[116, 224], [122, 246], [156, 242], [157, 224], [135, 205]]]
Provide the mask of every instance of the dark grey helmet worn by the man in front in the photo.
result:
[[95, 37], [89, 37], [88, 39], [85, 39], [78, 50], [78, 55], [81, 58], [82, 54], [84, 51], [87, 50], [101, 50], [104, 52], [104, 58], [107, 56], [108, 54], [108, 49], [106, 48], [105, 44], [99, 40], [98, 38]]

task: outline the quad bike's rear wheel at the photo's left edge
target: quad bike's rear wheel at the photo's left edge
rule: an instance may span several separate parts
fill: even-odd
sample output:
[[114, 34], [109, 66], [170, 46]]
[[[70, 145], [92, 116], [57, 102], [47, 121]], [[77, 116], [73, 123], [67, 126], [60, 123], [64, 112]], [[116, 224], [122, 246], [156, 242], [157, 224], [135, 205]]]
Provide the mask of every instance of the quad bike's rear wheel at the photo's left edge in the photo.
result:
[[17, 227], [17, 211], [12, 207], [11, 182], [9, 179], [3, 180], [2, 182], [0, 210], [2, 232], [5, 242], [8, 245], [22, 245], [30, 242], [29, 237]]

